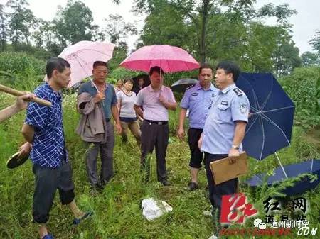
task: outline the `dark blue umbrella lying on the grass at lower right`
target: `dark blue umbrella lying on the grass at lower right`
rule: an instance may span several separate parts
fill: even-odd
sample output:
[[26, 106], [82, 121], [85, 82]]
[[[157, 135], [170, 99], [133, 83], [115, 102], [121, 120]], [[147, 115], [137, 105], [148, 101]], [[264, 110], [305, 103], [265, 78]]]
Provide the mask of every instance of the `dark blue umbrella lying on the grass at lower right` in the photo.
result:
[[[284, 174], [284, 171], [286, 174]], [[246, 183], [252, 187], [257, 187], [266, 182], [268, 186], [271, 186], [274, 183], [283, 182], [287, 177], [293, 178], [300, 174], [310, 173], [318, 176], [317, 179], [311, 179], [311, 181], [309, 177], [305, 177], [299, 182], [294, 182], [293, 187], [287, 187], [287, 189], [282, 191], [287, 196], [293, 196], [303, 194], [306, 190], [314, 189], [320, 182], [320, 160], [307, 160], [292, 165], [285, 165], [284, 171], [282, 167], [277, 167], [274, 169], [272, 176], [265, 178], [266, 174], [257, 174], [248, 179]]]

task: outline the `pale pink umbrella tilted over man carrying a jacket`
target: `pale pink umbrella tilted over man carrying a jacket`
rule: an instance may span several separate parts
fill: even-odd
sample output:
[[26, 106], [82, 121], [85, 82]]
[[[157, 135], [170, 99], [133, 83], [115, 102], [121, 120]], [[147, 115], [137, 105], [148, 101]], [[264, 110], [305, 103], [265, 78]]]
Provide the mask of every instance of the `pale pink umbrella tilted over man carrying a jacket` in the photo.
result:
[[58, 57], [67, 60], [71, 65], [71, 81], [68, 87], [81, 82], [85, 77], [90, 77], [92, 75], [93, 62], [97, 60], [107, 62], [110, 60], [114, 46], [112, 43], [82, 40], [65, 48]]

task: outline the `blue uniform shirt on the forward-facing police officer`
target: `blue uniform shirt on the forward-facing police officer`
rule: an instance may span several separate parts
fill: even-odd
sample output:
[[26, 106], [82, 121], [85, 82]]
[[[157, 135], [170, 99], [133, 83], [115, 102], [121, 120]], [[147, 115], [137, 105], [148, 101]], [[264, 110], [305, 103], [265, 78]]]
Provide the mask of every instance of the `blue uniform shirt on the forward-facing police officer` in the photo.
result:
[[214, 97], [218, 94], [218, 89], [210, 85], [208, 90], [201, 87], [197, 82], [193, 87], [187, 89], [183, 94], [180, 106], [183, 109], [189, 109], [189, 127], [199, 128], [204, 127], [208, 116], [209, 107], [212, 104]]

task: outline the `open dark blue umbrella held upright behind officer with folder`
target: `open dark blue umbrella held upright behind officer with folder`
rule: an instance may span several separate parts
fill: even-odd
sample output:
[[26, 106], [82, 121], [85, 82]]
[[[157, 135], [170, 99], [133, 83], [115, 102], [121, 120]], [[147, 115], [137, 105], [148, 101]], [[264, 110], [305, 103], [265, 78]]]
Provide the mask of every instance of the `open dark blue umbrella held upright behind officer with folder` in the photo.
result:
[[248, 155], [263, 160], [290, 144], [294, 103], [270, 73], [241, 73], [237, 87], [250, 101], [243, 148]]

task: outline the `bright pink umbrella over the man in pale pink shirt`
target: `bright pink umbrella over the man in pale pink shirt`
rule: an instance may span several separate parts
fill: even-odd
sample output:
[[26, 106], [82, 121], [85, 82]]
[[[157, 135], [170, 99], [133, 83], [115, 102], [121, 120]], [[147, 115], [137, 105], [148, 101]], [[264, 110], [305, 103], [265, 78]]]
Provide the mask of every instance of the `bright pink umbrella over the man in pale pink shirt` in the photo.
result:
[[185, 50], [171, 45], [146, 45], [133, 52], [120, 66], [149, 72], [159, 66], [164, 72], [182, 72], [199, 68], [198, 62]]

